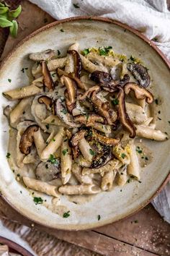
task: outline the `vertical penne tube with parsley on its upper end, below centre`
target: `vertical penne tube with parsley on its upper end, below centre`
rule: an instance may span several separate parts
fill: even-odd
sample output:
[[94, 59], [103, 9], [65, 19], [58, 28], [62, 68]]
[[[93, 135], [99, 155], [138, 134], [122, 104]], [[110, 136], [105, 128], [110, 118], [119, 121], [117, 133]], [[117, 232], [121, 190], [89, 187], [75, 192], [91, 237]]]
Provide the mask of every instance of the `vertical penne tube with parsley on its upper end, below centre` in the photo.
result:
[[65, 138], [61, 144], [61, 177], [63, 184], [66, 184], [71, 178], [71, 166], [71, 148], [68, 145], [68, 138]]

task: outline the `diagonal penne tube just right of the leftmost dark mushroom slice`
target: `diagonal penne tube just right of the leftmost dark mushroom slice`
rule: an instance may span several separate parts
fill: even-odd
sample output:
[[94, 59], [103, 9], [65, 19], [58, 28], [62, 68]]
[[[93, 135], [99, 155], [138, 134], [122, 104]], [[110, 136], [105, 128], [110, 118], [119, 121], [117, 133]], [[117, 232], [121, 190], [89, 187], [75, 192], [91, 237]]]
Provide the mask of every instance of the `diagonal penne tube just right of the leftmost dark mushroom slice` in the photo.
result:
[[49, 144], [42, 150], [40, 158], [43, 160], [47, 160], [50, 155], [53, 155], [55, 151], [61, 146], [63, 140], [63, 127], [61, 127], [58, 133], [53, 137], [53, 140], [49, 142]]

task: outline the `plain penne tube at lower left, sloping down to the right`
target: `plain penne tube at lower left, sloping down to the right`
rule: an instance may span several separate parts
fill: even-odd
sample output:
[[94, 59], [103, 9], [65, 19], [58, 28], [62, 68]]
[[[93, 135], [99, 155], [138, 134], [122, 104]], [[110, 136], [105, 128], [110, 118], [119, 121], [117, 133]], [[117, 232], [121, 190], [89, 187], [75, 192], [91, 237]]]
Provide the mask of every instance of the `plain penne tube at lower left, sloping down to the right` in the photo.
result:
[[42, 192], [46, 195], [51, 195], [53, 197], [60, 197], [58, 189], [51, 184], [26, 176], [23, 177], [23, 182], [29, 189], [33, 189], [35, 191]]

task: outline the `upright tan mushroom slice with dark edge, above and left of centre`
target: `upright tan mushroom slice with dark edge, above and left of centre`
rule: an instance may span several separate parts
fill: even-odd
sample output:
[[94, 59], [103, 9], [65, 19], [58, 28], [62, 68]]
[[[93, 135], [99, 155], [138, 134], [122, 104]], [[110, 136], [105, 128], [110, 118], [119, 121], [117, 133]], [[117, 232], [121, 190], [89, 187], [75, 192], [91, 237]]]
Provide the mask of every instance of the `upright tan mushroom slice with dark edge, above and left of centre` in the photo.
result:
[[65, 93], [66, 106], [68, 111], [71, 113], [73, 108], [76, 106], [76, 84], [70, 77], [66, 76], [61, 77], [61, 83], [67, 88]]

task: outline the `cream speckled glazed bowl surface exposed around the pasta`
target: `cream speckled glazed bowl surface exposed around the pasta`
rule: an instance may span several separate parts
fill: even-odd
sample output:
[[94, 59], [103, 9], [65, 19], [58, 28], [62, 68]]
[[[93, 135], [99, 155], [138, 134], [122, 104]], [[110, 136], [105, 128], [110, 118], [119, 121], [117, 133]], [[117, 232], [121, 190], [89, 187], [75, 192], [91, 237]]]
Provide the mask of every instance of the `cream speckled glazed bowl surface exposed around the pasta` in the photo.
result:
[[[169, 62], [151, 41], [136, 30], [105, 18], [76, 17], [53, 22], [22, 40], [1, 66], [0, 93], [9, 90], [9, 88], [28, 84], [27, 76], [20, 72], [22, 67], [30, 67], [31, 65], [28, 54], [54, 48], [65, 55], [68, 46], [74, 42], [79, 42], [81, 49], [91, 46], [112, 46], [116, 53], [127, 54], [128, 56], [132, 54], [142, 59], [146, 67], [149, 68], [153, 80], [151, 86], [153, 95], [159, 96], [163, 101], [158, 107], [158, 110], [161, 111], [162, 120], [158, 121], [157, 128], [169, 133]], [[8, 78], [12, 82], [9, 83]], [[7, 104], [9, 101], [0, 95], [0, 189], [5, 200], [32, 221], [53, 229], [66, 230], [91, 229], [103, 226], [130, 216], [143, 208], [169, 179], [170, 140], [166, 142], [145, 140], [145, 145], [153, 151], [153, 161], [147, 168], [143, 169], [141, 173], [142, 183], [130, 182], [122, 189], [115, 187], [111, 192], [100, 193], [94, 197], [94, 200], [86, 202], [84, 205], [75, 205], [63, 199], [63, 203], [67, 205], [71, 216], [62, 218], [43, 205], [35, 205], [27, 189], [24, 189], [14, 179], [14, 174], [6, 161], [9, 135], [3, 108]], [[21, 189], [22, 194], [20, 193]], [[99, 221], [98, 215], [101, 216]]]

